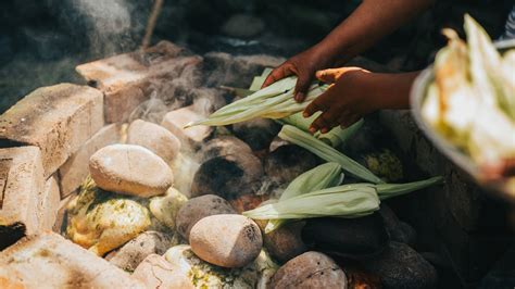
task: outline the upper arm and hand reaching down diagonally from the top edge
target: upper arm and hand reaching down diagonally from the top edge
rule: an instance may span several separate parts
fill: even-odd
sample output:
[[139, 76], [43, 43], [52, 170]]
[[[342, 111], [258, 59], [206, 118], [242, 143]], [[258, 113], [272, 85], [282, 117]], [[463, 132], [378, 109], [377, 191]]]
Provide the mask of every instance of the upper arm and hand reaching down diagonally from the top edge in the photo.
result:
[[263, 87], [297, 75], [294, 99], [303, 101], [316, 71], [342, 65], [428, 9], [432, 2], [434, 0], [364, 0], [321, 42], [272, 71]]

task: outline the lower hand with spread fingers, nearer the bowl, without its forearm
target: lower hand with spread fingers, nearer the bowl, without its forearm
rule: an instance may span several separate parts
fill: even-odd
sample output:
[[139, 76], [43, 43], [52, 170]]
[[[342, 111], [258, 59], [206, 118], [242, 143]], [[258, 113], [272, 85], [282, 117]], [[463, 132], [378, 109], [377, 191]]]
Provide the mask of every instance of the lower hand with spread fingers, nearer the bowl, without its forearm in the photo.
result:
[[318, 71], [316, 77], [331, 86], [304, 110], [304, 117], [322, 111], [310, 127], [312, 134], [317, 130], [325, 134], [338, 125], [349, 127], [378, 109], [374, 95], [368, 92], [373, 84], [370, 72], [360, 67], [340, 67]]

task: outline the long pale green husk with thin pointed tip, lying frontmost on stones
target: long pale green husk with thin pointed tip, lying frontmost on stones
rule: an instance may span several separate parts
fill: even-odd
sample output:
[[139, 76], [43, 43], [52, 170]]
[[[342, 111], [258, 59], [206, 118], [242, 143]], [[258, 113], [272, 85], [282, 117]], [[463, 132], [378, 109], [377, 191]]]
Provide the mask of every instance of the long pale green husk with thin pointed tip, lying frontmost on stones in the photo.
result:
[[407, 184], [352, 184], [312, 191], [243, 212], [254, 219], [323, 216], [361, 217], [379, 209], [380, 200], [441, 183], [441, 177]]

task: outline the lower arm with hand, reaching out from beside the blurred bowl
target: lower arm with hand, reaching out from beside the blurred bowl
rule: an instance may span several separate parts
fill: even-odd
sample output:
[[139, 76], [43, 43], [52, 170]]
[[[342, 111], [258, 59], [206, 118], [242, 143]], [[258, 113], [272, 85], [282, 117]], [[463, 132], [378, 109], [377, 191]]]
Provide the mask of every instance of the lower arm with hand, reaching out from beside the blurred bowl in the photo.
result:
[[310, 131], [327, 133], [338, 125], [348, 127], [381, 109], [409, 109], [410, 89], [418, 74], [372, 73], [360, 67], [318, 71], [316, 77], [331, 86], [304, 110], [304, 117], [322, 111]]

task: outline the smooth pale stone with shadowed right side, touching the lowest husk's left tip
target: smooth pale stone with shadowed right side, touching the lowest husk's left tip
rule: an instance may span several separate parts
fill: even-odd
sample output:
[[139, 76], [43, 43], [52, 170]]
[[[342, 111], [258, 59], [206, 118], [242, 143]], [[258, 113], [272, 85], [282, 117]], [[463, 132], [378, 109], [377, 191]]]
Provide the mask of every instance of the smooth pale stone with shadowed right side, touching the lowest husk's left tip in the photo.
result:
[[200, 219], [191, 228], [189, 242], [200, 259], [229, 268], [251, 263], [263, 247], [260, 227], [246, 216], [233, 214]]

